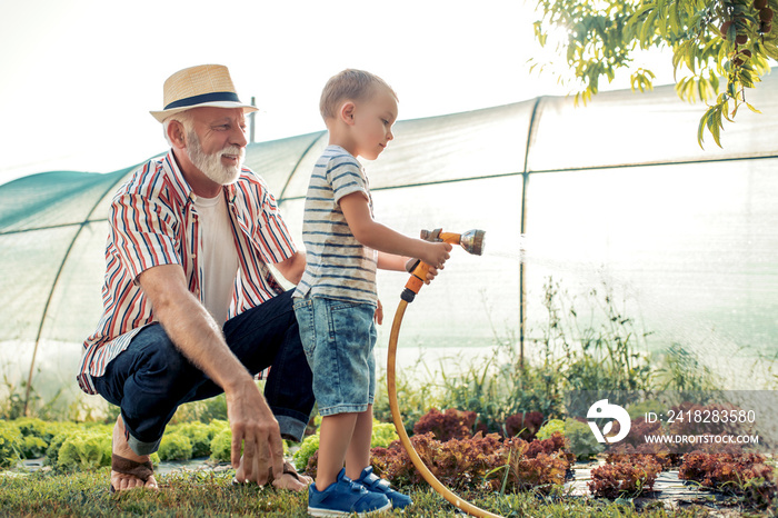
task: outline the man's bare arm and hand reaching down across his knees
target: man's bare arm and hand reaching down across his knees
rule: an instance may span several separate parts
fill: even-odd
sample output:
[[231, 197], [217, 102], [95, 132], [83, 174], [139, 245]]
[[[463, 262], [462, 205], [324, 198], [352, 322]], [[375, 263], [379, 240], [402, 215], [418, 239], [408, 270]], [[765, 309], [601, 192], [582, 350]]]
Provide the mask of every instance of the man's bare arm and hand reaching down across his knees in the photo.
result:
[[176, 347], [225, 390], [232, 430], [232, 466], [248, 466], [239, 475], [265, 484], [270, 465], [275, 478], [279, 479], [283, 471], [283, 444], [278, 421], [253, 377], [230, 351], [219, 326], [187, 289], [181, 267], [152, 267], [138, 280], [151, 302], [156, 319]]

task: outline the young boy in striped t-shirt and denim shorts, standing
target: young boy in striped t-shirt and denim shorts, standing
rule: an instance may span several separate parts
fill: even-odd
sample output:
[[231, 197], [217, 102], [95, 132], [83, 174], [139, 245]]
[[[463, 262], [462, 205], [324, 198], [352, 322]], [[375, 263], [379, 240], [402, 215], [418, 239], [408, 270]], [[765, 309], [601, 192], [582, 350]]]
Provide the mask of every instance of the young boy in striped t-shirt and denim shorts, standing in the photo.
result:
[[302, 226], [308, 265], [293, 296], [322, 416], [308, 512], [402, 508], [410, 498], [370, 467], [375, 323], [382, 320], [376, 268], [403, 271], [408, 258], [418, 258], [432, 267], [429, 282], [451, 246], [406, 237], [372, 219], [372, 198], [357, 157], [375, 160], [395, 138], [393, 90], [369, 72], [343, 70], [327, 82], [320, 110], [329, 146], [308, 187]]

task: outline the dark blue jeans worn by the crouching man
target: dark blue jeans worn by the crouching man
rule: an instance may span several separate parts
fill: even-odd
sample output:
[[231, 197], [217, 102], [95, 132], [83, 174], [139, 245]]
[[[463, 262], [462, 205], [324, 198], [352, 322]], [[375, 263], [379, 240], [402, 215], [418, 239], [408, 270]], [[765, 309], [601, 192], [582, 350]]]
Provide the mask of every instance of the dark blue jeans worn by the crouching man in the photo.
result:
[[[272, 367], [265, 398], [281, 436], [299, 441], [315, 398], [291, 293], [273, 297], [228, 320], [223, 332], [227, 345], [249, 372], [256, 375]], [[138, 455], [157, 451], [164, 427], [181, 404], [223, 391], [178, 350], [158, 323], [138, 332], [127, 350], [108, 363], [104, 376], [94, 378], [94, 387], [121, 408], [130, 447]]]

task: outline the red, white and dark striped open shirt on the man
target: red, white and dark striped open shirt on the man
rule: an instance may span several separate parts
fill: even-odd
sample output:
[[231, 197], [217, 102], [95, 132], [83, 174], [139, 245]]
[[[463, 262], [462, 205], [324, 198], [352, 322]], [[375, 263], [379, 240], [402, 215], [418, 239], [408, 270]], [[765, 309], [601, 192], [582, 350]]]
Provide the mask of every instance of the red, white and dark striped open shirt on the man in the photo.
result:
[[[283, 292], [267, 263], [289, 259], [295, 243], [265, 180], [243, 168], [237, 182], [225, 186], [238, 251], [238, 273], [228, 318]], [[156, 321], [151, 305], [137, 282], [154, 266], [180, 265], [189, 290], [200, 301], [202, 266], [196, 195], [172, 151], [140, 167], [113, 197], [106, 245], [103, 315], [83, 343], [77, 376], [87, 394], [97, 394], [92, 377], [127, 349], [132, 337]]]

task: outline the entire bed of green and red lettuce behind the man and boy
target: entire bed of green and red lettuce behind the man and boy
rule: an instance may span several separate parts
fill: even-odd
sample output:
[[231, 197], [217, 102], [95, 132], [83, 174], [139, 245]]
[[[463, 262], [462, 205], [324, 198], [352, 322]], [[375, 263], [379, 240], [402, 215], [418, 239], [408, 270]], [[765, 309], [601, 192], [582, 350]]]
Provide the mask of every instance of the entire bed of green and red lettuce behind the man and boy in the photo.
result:
[[[678, 468], [682, 480], [702, 488], [737, 496], [751, 507], [765, 507], [776, 497], [774, 467], [765, 456], [739, 451], [697, 448], [684, 454], [638, 445], [631, 438], [658, 432], [656, 424], [638, 420], [634, 432], [618, 447], [602, 455], [591, 439], [589, 427], [575, 419], [552, 419], [535, 426], [542, 416], [511, 416], [508, 436], [476, 430], [472, 411], [431, 409], [416, 424], [410, 438], [416, 452], [432, 475], [459, 491], [493, 492], [558, 491], [572, 476], [573, 462], [605, 457], [606, 464], [591, 470], [592, 496], [635, 498], [650, 495], [660, 471]], [[111, 427], [47, 422], [22, 418], [0, 424], [0, 467], [9, 468], [22, 458], [46, 458], [61, 471], [93, 469], [110, 465]], [[522, 438], [523, 437], [523, 438]], [[297, 468], [316, 477], [318, 432], [305, 439], [295, 452]], [[227, 461], [231, 432], [227, 421], [209, 425], [193, 421], [171, 425], [152, 460], [187, 460], [209, 457]], [[423, 485], [419, 471], [398, 440], [391, 424], [373, 426], [371, 464], [380, 476], [397, 486]], [[651, 446], [651, 445], [649, 445]], [[575, 452], [573, 452], [575, 451]]]

